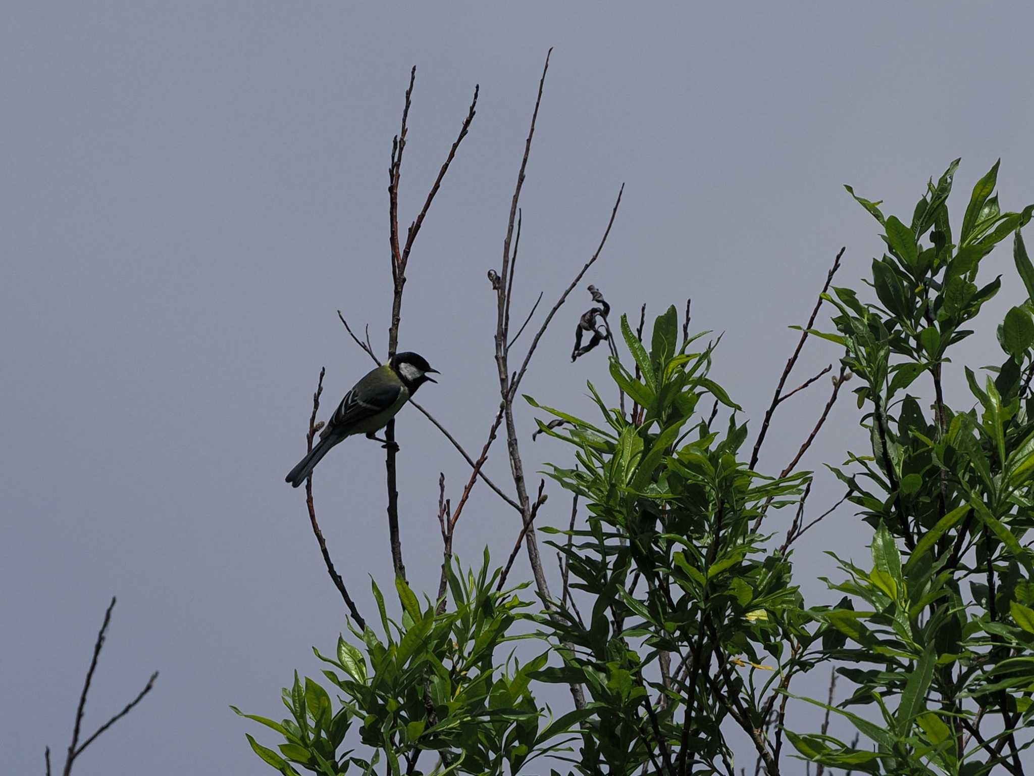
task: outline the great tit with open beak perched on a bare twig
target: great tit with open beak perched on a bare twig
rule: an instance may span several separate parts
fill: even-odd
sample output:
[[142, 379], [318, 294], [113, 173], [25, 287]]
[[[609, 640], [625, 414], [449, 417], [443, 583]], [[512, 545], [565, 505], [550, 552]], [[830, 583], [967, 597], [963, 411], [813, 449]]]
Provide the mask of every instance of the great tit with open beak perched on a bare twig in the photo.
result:
[[384, 366], [368, 372], [344, 395], [320, 431], [320, 442], [291, 470], [285, 481], [294, 487], [305, 482], [321, 458], [345, 437], [365, 434], [367, 439], [388, 444], [374, 435], [388, 425], [420, 386], [436, 383], [428, 375], [437, 374], [417, 353], [396, 353]]

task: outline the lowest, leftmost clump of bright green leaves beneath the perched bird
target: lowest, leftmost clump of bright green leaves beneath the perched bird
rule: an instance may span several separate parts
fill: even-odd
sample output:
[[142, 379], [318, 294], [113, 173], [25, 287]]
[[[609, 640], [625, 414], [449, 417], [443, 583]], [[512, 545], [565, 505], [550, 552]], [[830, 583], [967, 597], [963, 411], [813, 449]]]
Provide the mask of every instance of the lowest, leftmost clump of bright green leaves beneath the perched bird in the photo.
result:
[[[373, 583], [384, 639], [367, 625], [363, 632], [353, 630], [362, 649], [342, 636], [333, 658], [313, 650], [331, 666], [324, 677], [340, 693], [337, 710], [323, 684], [308, 677], [303, 683], [296, 671], [294, 685], [283, 689], [290, 719], [242, 715], [284, 739], [277, 752], [248, 736], [255, 753], [291, 776], [299, 768], [324, 776], [382, 770], [397, 776], [517, 773], [562, 748], [570, 738], [566, 734], [585, 712], [554, 720], [536, 703], [530, 681], [548, 652], [523, 665], [512, 655], [496, 664], [504, 644], [524, 637], [511, 631], [527, 616], [528, 602], [517, 596], [527, 586], [496, 591], [499, 571], [490, 574], [489, 568], [487, 551], [477, 574], [460, 573], [458, 563], [450, 567], [453, 605], [448, 611], [426, 599], [421, 607], [405, 581], [397, 579], [401, 622], [388, 617]], [[371, 752], [364, 757], [355, 749], [339, 751], [353, 726]]]

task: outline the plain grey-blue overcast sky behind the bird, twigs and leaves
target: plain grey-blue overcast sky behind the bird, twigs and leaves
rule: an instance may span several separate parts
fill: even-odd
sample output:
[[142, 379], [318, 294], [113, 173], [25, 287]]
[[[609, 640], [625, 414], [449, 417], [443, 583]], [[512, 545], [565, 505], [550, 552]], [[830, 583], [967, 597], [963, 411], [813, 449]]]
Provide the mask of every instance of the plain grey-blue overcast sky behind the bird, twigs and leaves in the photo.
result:
[[[283, 475], [304, 452], [327, 367], [332, 407], [370, 366], [335, 310], [384, 352], [390, 305], [387, 169], [418, 66], [400, 219], [416, 215], [465, 115], [478, 115], [409, 264], [401, 347], [442, 370], [420, 398], [472, 452], [497, 407], [494, 297], [510, 198], [543, 59], [555, 47], [522, 200], [514, 317], [543, 308], [603, 258], [554, 321], [522, 391], [591, 414], [603, 351], [571, 365], [597, 285], [616, 311], [693, 298], [693, 328], [726, 332], [713, 377], [754, 434], [826, 269], [841, 285], [881, 250], [841, 187], [910, 216], [956, 156], [955, 217], [998, 156], [1003, 208], [1034, 201], [1027, 3], [519, 4], [20, 3], [0, 25], [0, 750], [39, 773], [71, 733], [90, 649], [119, 596], [90, 730], [154, 669], [154, 692], [78, 763], [78, 776], [271, 772], [229, 704], [279, 717], [292, 670], [314, 675], [342, 606]], [[1021, 298], [1009, 249], [985, 262], [1003, 292], [965, 351], [999, 363], [997, 316]], [[542, 312], [536, 323], [541, 321]], [[820, 323], [825, 325], [827, 312]], [[527, 341], [525, 339], [525, 341]], [[796, 385], [838, 357], [808, 347]], [[966, 401], [949, 369], [949, 401]], [[850, 387], [850, 386], [849, 386]], [[811, 428], [825, 379], [777, 415], [761, 468]], [[610, 391], [612, 394], [612, 391]], [[853, 396], [803, 466], [862, 449]], [[530, 442], [527, 469], [569, 451]], [[416, 411], [399, 418], [410, 583], [437, 584], [436, 480], [467, 468]], [[508, 482], [496, 444], [488, 470]], [[820, 474], [809, 515], [839, 498]], [[512, 481], [509, 488], [512, 490]], [[540, 517], [567, 519], [557, 486]], [[329, 546], [361, 609], [391, 587], [383, 451], [363, 440], [317, 470]], [[772, 530], [785, 531], [789, 514]], [[476, 489], [457, 550], [501, 561], [516, 515]], [[833, 600], [819, 549], [868, 563], [844, 509], [796, 555], [810, 603]], [[547, 557], [551, 560], [552, 555]], [[552, 572], [552, 563], [550, 563]], [[512, 578], [527, 578], [521, 555]], [[813, 692], [824, 692], [819, 678]], [[556, 696], [558, 708], [565, 697]], [[798, 729], [818, 727], [809, 713]], [[753, 757], [738, 765], [753, 765]]]

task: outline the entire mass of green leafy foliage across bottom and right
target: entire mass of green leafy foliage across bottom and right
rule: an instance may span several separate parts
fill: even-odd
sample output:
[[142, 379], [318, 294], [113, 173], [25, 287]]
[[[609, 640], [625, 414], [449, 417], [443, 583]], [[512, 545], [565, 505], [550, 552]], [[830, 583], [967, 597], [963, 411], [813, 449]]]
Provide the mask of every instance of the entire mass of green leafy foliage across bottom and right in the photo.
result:
[[[550, 754], [578, 774], [731, 776], [739, 728], [770, 776], [803, 772], [800, 759], [871, 774], [1022, 774], [1034, 744], [1024, 729], [1034, 717], [1034, 267], [1020, 230], [1034, 206], [1001, 212], [996, 165], [953, 236], [956, 166], [931, 180], [908, 225], [848, 188], [887, 252], [865, 281], [876, 300], [834, 288], [824, 298], [835, 331], [811, 332], [843, 349], [871, 440], [828, 467], [873, 530], [872, 565], [837, 559], [843, 578], [825, 580], [839, 603], [807, 605], [792, 541], [773, 548], [763, 531], [774, 510], [800, 506], [813, 473], [771, 477], [744, 461], [741, 408], [710, 377], [721, 337], [680, 337], [672, 307], [647, 348], [622, 317], [632, 359], [612, 358], [610, 375], [631, 413], [591, 384], [596, 422], [526, 397], [561, 421], [538, 421], [573, 451], [548, 473], [587, 510], [584, 526], [541, 529], [574, 593], [567, 579], [559, 600], [535, 605], [523, 586], [497, 592], [486, 554], [477, 574], [449, 568], [448, 600], [421, 605], [399, 580], [396, 623], [374, 585], [381, 635], [367, 627], [353, 631], [360, 646], [316, 653], [337, 706], [296, 675], [283, 698], [292, 719], [250, 717], [285, 743], [277, 752], [248, 737], [255, 752], [283, 774], [531, 773]], [[952, 409], [948, 351], [999, 291], [1001, 277], [977, 278], [1010, 236], [1030, 298], [998, 326], [1000, 365], [982, 379], [965, 367], [972, 400]], [[933, 401], [909, 392], [920, 378]], [[517, 638], [541, 654], [523, 665], [501, 656]], [[850, 695], [799, 699], [853, 726], [851, 742], [797, 732], [787, 715], [791, 682], [825, 663]], [[554, 719], [534, 694], [544, 684], [579, 685], [586, 700]], [[353, 728], [369, 759], [341, 751]]]

